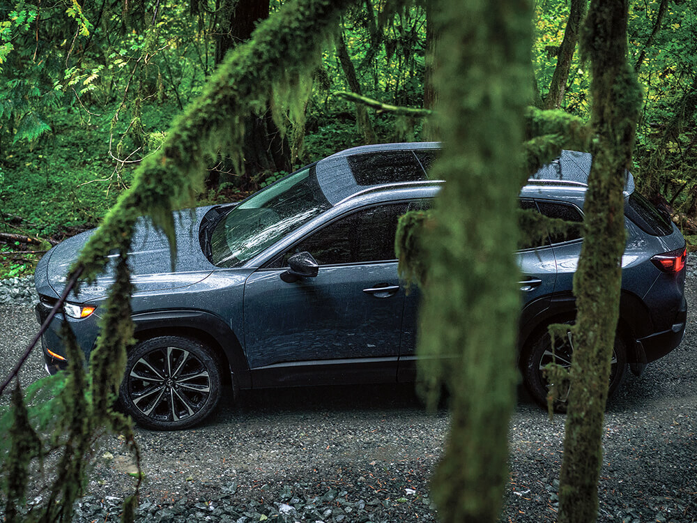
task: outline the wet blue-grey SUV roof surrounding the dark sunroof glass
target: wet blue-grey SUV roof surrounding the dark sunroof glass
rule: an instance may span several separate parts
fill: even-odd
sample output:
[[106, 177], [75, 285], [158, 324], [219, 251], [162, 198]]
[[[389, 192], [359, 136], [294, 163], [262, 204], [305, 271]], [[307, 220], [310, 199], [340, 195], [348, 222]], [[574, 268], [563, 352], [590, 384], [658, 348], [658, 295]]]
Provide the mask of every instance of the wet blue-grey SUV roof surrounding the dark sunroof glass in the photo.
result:
[[[434, 180], [429, 180], [425, 176], [425, 166], [420, 163], [418, 155], [414, 156], [416, 165], [421, 165], [424, 173], [420, 179], [400, 179], [398, 169], [395, 169], [395, 178], [385, 181], [384, 176], [376, 176], [373, 183], [370, 176], [363, 174], [360, 182], [356, 179], [351, 167], [351, 162], [355, 158], [362, 156], [373, 156], [376, 153], [388, 153], [392, 151], [438, 151], [441, 149], [441, 142], [408, 142], [401, 144], [375, 144], [353, 147], [328, 156], [316, 164], [316, 174], [319, 185], [325, 197], [332, 205], [344, 202], [358, 194], [374, 192], [378, 190], [405, 187], [408, 185], [433, 184]], [[355, 161], [353, 162], [355, 165]], [[587, 188], [588, 176], [592, 164], [590, 153], [578, 151], [562, 151], [560, 157], [540, 168], [533, 176], [528, 179], [528, 185], [544, 186], [549, 190], [556, 188]], [[634, 177], [629, 171], [625, 176], [625, 195], [634, 192]]]

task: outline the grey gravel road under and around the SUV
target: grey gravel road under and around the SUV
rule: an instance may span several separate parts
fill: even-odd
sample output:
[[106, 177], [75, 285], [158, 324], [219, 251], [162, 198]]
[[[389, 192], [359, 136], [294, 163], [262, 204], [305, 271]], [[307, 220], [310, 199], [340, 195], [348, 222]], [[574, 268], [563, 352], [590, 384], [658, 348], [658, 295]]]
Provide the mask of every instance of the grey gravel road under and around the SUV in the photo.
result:
[[[689, 267], [682, 345], [641, 377], [628, 373], [608, 404], [599, 522], [697, 521], [696, 271]], [[4, 303], [1, 376], [37, 329], [30, 296]], [[36, 351], [22, 383], [41, 376]], [[563, 424], [520, 391], [502, 521], [556, 520]], [[447, 427], [447, 411], [424, 412], [407, 386], [244, 393], [194, 430], [137, 428], [145, 473], [138, 520], [434, 521], [428, 482]], [[76, 522], [118, 521], [121, 499], [135, 485], [118, 438], [104, 441], [98, 455], [105, 458], [91, 471]]]

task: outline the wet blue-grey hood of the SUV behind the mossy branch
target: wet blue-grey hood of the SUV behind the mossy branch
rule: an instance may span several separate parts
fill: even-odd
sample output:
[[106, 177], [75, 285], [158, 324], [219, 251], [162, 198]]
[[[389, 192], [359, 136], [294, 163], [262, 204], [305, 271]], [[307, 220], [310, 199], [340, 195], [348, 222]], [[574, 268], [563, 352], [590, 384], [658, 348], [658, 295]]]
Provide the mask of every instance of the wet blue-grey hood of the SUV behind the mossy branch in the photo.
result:
[[[167, 236], [158, 232], [150, 220], [139, 218], [128, 252], [135, 293], [188, 287], [203, 280], [215, 269], [199, 245], [199, 222], [208, 209], [210, 207], [199, 207], [174, 213], [177, 244], [174, 271], [171, 270]], [[70, 266], [96, 230], [72, 236], [47, 252], [36, 268], [39, 294], [61, 294]], [[82, 285], [79, 295], [71, 294], [68, 299], [84, 303], [106, 296], [109, 285], [114, 281], [117, 257], [116, 254], [109, 255], [109, 263], [97, 280], [92, 285]]]

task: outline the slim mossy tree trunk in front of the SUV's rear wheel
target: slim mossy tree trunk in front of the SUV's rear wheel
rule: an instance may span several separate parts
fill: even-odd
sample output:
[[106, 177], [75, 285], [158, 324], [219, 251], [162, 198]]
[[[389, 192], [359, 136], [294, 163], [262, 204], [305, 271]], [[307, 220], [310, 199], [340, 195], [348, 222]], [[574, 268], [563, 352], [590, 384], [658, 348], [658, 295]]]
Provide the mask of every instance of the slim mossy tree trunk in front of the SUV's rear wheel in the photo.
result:
[[595, 522], [602, 432], [625, 250], [622, 188], [631, 162], [641, 90], [627, 63], [627, 0], [592, 0], [583, 27], [592, 73], [593, 165], [585, 197], [585, 239], [574, 276], [569, 414], [558, 521]]

